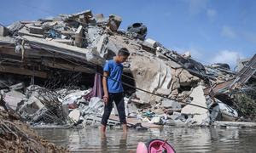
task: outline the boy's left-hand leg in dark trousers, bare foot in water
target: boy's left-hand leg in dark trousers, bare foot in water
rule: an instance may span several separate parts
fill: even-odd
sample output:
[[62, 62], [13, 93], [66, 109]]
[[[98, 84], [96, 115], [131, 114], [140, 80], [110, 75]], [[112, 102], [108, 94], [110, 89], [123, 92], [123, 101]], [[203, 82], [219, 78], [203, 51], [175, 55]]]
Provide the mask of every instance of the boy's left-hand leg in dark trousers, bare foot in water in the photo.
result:
[[107, 105], [104, 106], [104, 113], [102, 116], [102, 133], [106, 132], [106, 127], [108, 123], [108, 118], [113, 109], [113, 95], [109, 93], [109, 99]]

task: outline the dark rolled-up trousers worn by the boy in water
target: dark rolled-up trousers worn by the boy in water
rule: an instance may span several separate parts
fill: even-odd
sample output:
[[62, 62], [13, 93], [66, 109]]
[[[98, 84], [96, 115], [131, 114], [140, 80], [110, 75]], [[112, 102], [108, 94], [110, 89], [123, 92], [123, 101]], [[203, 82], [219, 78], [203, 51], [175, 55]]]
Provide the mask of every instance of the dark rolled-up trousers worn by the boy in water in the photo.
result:
[[107, 125], [108, 118], [113, 109], [113, 101], [119, 112], [119, 120], [121, 124], [126, 124], [125, 116], [125, 102], [124, 102], [124, 93], [109, 93], [108, 94], [108, 104], [104, 106], [104, 114], [102, 116], [102, 125]]

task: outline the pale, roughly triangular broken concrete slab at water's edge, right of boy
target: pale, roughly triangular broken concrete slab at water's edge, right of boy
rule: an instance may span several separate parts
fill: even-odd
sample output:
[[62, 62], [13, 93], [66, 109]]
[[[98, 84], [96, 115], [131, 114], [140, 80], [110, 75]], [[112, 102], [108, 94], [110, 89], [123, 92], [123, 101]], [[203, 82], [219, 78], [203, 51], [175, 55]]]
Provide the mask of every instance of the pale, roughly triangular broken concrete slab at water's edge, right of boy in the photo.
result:
[[[202, 107], [207, 108], [207, 100], [203, 92], [202, 86], [198, 86], [193, 89], [190, 97], [193, 98], [191, 104], [200, 105]], [[194, 105], [186, 105], [182, 109], [183, 114], [192, 114], [193, 121], [195, 121], [196, 125], [202, 125], [209, 121], [209, 112], [207, 109], [203, 109], [201, 107], [197, 107]]]

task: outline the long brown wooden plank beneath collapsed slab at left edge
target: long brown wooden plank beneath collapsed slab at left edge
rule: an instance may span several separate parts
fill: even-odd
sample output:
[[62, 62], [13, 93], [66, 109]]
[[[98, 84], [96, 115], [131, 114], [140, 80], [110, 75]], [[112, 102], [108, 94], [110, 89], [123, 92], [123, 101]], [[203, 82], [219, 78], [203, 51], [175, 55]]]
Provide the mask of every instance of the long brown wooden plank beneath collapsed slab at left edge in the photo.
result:
[[35, 76], [35, 77], [41, 77], [41, 78], [47, 78], [47, 73], [44, 71], [31, 71], [22, 67], [13, 67], [8, 65], [1, 65], [0, 71], [6, 72], [6, 73], [13, 73], [13, 74], [20, 74], [20, 75], [26, 75], [26, 76]]

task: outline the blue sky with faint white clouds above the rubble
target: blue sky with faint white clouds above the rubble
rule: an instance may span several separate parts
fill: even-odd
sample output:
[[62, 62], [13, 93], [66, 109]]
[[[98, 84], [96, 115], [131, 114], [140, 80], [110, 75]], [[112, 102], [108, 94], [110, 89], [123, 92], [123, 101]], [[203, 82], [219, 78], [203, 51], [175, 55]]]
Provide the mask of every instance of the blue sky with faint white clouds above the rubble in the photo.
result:
[[120, 29], [135, 22], [148, 27], [148, 38], [178, 53], [190, 51], [205, 65], [228, 63], [256, 54], [254, 0], [8, 0], [0, 5], [0, 23], [38, 20], [91, 9], [118, 14]]

